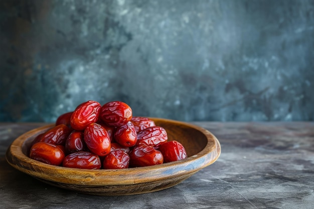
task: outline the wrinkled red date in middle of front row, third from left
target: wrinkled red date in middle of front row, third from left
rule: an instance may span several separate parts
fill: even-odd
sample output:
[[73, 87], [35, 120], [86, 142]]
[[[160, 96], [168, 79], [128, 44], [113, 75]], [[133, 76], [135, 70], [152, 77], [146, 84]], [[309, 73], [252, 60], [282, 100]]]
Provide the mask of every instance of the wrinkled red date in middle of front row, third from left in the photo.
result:
[[122, 150], [111, 151], [103, 160], [104, 169], [128, 168], [130, 162], [129, 155]]

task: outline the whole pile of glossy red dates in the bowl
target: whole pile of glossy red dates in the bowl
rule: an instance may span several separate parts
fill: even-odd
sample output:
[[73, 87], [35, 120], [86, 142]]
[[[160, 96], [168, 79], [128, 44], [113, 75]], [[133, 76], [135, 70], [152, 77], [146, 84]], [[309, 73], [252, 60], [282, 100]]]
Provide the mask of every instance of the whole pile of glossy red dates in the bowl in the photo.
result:
[[103, 106], [86, 101], [60, 115], [53, 128], [34, 139], [32, 159], [70, 168], [120, 169], [185, 159], [178, 141], [168, 141], [163, 127], [147, 117], [132, 116], [124, 102]]

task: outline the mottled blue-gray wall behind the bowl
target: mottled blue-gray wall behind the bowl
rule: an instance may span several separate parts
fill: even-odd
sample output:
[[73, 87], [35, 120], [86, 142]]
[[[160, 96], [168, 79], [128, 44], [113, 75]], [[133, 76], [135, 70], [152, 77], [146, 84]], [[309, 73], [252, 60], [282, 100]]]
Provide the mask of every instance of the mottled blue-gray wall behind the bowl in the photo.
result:
[[0, 121], [128, 103], [183, 121], [313, 120], [314, 1], [0, 1]]

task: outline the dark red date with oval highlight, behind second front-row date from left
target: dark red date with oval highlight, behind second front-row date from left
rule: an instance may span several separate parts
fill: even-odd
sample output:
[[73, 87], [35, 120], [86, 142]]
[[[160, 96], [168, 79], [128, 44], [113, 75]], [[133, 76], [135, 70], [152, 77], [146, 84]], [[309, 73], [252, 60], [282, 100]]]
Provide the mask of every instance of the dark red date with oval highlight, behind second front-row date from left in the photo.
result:
[[83, 131], [72, 131], [65, 141], [65, 150], [67, 154], [86, 151], [87, 147], [84, 141]]

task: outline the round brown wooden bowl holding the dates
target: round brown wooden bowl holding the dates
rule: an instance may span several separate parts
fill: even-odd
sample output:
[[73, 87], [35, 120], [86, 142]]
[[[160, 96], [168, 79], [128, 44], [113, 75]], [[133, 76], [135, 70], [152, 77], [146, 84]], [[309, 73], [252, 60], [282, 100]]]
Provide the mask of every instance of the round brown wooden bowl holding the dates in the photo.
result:
[[6, 158], [14, 168], [54, 186], [97, 195], [130, 195], [177, 185], [219, 157], [220, 143], [208, 130], [185, 122], [151, 119], [166, 129], [169, 140], [183, 144], [188, 158], [160, 165], [107, 170], [66, 168], [29, 158], [27, 153], [34, 138], [54, 124], [18, 137], [8, 148]]

